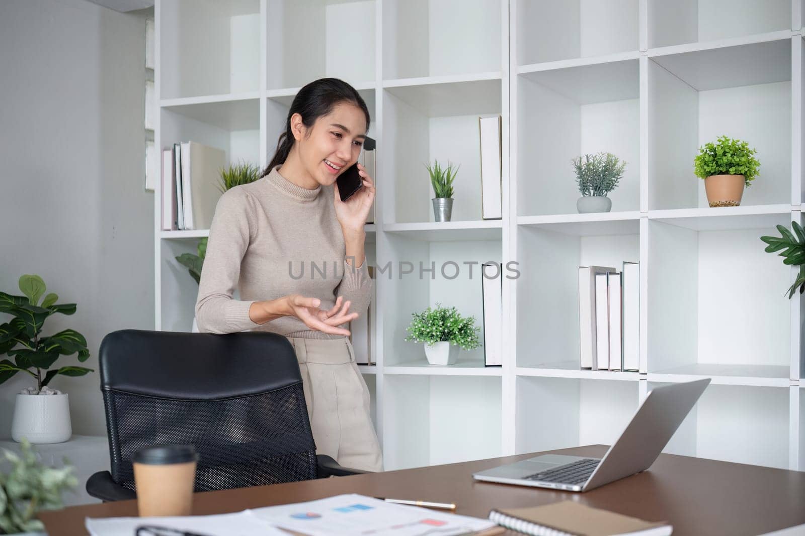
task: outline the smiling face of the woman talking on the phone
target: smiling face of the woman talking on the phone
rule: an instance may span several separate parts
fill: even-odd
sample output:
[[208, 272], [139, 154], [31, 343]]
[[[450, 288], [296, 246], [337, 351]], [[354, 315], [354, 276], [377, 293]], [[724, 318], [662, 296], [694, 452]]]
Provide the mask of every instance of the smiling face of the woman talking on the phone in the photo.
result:
[[366, 117], [354, 104], [341, 103], [319, 117], [309, 137], [299, 140], [299, 156], [316, 182], [329, 186], [357, 162], [366, 135]]

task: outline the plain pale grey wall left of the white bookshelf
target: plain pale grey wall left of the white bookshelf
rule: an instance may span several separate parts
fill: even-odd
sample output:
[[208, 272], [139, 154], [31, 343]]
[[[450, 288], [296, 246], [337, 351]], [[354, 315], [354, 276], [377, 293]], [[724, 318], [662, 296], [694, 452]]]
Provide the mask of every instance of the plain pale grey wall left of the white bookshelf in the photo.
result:
[[[154, 326], [143, 28], [142, 14], [85, 0], [0, 2], [0, 290], [20, 294], [19, 276], [38, 273], [60, 303], [78, 305], [43, 332], [69, 327], [89, 343], [96, 372], [52, 382], [70, 395], [76, 434], [105, 435], [101, 339]], [[30, 383], [18, 373], [0, 385], [0, 437]]]

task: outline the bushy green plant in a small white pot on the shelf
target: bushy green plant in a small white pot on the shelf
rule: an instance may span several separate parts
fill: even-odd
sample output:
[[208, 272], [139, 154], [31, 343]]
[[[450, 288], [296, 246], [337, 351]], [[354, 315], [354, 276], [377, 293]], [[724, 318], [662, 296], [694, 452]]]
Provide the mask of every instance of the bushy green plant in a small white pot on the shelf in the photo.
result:
[[431, 365], [452, 365], [459, 348], [473, 350], [481, 343], [475, 317], [462, 317], [455, 307], [428, 307], [422, 313], [411, 313], [414, 319], [407, 331], [406, 341], [423, 342], [427, 362]]

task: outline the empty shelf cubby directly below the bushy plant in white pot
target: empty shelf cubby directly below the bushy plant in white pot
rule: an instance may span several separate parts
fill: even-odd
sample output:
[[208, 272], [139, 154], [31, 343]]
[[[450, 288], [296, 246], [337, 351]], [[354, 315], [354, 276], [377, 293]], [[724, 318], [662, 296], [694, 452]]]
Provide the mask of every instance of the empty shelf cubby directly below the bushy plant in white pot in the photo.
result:
[[480, 460], [501, 454], [501, 379], [384, 378], [386, 469]]

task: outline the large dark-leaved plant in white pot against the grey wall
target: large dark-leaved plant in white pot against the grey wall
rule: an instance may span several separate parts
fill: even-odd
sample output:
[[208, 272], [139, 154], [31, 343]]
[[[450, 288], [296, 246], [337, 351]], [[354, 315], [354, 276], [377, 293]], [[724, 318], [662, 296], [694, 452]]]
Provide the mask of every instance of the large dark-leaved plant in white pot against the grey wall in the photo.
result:
[[18, 372], [25, 372], [35, 378], [36, 387], [27, 387], [17, 395], [11, 436], [15, 441], [27, 438], [36, 444], [61, 443], [72, 434], [68, 396], [47, 384], [56, 374], [83, 376], [93, 369], [74, 365], [51, 367], [61, 355], [78, 354], [78, 361], [85, 362], [89, 358], [87, 341], [75, 329], [43, 337], [47, 317], [54, 313], [75, 313], [76, 304], [56, 304], [59, 297], [55, 293], [42, 299], [47, 287], [39, 276], [20, 277], [19, 289], [25, 296], [0, 293], [0, 313], [14, 317], [0, 325], [0, 355], [14, 358], [14, 362], [0, 360], [0, 383]]

